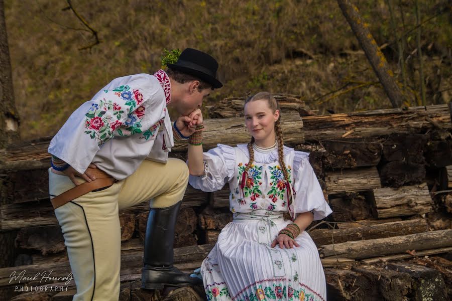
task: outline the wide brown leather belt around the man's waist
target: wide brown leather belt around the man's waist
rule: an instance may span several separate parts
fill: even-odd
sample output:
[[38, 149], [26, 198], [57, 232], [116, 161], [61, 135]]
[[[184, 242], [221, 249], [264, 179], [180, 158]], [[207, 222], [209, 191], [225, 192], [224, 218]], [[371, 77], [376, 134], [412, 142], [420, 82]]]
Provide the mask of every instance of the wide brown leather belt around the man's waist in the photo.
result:
[[115, 178], [109, 176], [107, 173], [99, 169], [88, 168], [87, 171], [90, 172], [90, 175], [94, 175], [96, 179], [91, 182], [85, 182], [83, 184], [75, 186], [74, 188], [71, 188], [68, 191], [65, 191], [62, 194], [51, 199], [50, 202], [52, 203], [54, 210], [60, 206], [63, 206], [67, 202], [81, 197], [84, 194], [87, 194], [88, 192], [111, 186], [116, 182]]

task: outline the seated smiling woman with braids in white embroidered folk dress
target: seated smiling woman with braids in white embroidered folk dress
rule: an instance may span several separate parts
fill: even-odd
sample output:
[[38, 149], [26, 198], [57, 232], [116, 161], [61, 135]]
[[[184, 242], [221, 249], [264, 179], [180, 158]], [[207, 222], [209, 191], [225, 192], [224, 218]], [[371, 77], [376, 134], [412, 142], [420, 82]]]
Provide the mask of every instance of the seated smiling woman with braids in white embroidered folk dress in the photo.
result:
[[[189, 183], [212, 192], [229, 183], [233, 221], [201, 265], [209, 300], [325, 300], [317, 248], [304, 231], [331, 213], [308, 153], [284, 146], [276, 99], [260, 92], [245, 102], [252, 138], [202, 152], [198, 131], [188, 148]], [[283, 218], [289, 212], [292, 220]]]

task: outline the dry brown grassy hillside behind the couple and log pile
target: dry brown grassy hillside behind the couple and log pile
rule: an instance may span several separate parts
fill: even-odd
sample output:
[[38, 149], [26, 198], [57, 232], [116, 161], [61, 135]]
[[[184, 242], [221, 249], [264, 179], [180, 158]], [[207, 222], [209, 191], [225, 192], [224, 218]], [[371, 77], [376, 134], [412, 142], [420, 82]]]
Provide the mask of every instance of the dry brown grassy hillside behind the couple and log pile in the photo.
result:
[[[377, 42], [382, 45], [393, 40], [385, 2], [355, 2]], [[210, 103], [225, 96], [268, 90], [299, 94], [320, 113], [390, 105], [382, 89], [372, 85], [326, 102], [328, 97], [321, 98], [350, 81], [376, 81], [364, 55], [347, 54], [360, 48], [334, 0], [72, 3], [99, 32], [102, 42], [91, 50], [78, 50], [92, 41], [89, 33], [54, 23], [82, 27], [72, 12], [62, 11], [65, 1], [6, 1], [23, 138], [54, 134], [75, 108], [111, 79], [157, 70], [163, 48], [194, 47], [218, 59], [219, 77], [225, 85], [212, 93]], [[434, 15], [441, 3], [444, 1], [423, 1], [424, 17]], [[409, 29], [414, 25], [410, 1], [401, 4], [397, 10], [400, 8], [405, 29]], [[447, 101], [447, 95], [436, 92], [451, 86], [448, 14], [423, 28], [428, 103]], [[402, 24], [399, 30], [403, 31]], [[407, 52], [415, 49], [414, 40], [408, 42]], [[314, 59], [301, 55], [300, 48]], [[395, 45], [385, 49], [394, 70], [395, 49]], [[408, 63], [412, 70], [409, 84], [416, 89], [416, 58]]]

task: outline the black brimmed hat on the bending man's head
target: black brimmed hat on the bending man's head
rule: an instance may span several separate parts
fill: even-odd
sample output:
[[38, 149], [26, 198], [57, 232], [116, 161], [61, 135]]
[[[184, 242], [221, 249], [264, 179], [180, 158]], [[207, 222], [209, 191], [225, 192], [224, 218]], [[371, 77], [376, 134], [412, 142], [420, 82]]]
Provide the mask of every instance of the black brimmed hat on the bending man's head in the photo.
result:
[[211, 84], [212, 88], [217, 89], [223, 86], [223, 84], [216, 79], [218, 62], [205, 52], [187, 48], [182, 51], [175, 64], [166, 65], [173, 70], [197, 77]]

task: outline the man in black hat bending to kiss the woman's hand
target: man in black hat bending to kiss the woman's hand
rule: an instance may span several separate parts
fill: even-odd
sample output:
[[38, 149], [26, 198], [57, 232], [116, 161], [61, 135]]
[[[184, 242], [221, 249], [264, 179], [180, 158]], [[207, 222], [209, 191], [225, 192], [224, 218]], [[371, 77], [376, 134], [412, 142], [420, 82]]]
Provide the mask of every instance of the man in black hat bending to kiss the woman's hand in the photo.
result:
[[[118, 300], [118, 212], [145, 201], [151, 210], [142, 287], [202, 284], [172, 265], [188, 169], [168, 152], [173, 138], [199, 134], [194, 111], [222, 84], [216, 60], [195, 49], [185, 49], [168, 68], [114, 79], [76, 109], [50, 142], [49, 191], [77, 286], [73, 300]], [[167, 106], [182, 116], [174, 124]]]

